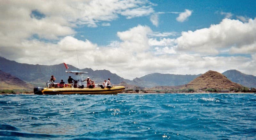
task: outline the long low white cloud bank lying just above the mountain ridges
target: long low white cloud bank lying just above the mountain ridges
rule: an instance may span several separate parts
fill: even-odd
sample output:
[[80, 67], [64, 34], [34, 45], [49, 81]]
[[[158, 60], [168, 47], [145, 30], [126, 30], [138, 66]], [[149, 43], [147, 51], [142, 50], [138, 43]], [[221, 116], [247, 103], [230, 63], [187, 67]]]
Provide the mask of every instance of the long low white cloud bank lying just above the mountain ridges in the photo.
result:
[[[222, 73], [229, 69], [255, 75], [252, 73], [256, 67], [255, 53], [252, 58], [209, 57], [183, 53], [175, 49], [176, 39], [157, 40], [148, 38], [149, 34], [152, 34], [152, 31], [148, 26], [138, 25], [118, 32], [121, 41], [113, 41], [105, 47], [71, 36], [61, 39], [57, 44], [26, 40], [17, 44], [16, 48], [1, 48], [0, 56], [5, 57], [6, 54], [2, 52], [10, 52], [16, 55], [14, 60], [22, 63], [54, 65], [66, 62], [79, 68], [107, 69], [130, 80], [156, 72], [200, 74], [208, 70]], [[151, 47], [154, 47], [153, 52]], [[13, 49], [16, 51], [13, 52]]]

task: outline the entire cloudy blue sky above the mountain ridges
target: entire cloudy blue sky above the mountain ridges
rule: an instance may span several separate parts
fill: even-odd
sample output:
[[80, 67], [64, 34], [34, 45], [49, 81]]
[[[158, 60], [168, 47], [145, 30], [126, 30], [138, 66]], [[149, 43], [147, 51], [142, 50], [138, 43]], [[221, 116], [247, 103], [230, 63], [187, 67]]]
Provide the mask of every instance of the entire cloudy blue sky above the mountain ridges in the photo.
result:
[[0, 19], [0, 56], [19, 63], [256, 75], [255, 0], [1, 0]]

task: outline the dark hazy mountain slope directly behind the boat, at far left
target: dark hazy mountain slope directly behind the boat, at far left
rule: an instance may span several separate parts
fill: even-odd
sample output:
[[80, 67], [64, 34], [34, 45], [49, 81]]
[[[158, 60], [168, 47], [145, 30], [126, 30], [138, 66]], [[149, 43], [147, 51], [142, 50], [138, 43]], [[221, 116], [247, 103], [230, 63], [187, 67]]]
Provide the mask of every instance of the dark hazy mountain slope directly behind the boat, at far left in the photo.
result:
[[[112, 84], [118, 84], [122, 81], [125, 81], [124, 78], [116, 74], [112, 74], [107, 70], [96, 70], [93, 71], [91, 68], [77, 69], [72, 65], [68, 65], [70, 70], [80, 70], [88, 72], [88, 74], [83, 74], [83, 79], [88, 76], [94, 80], [96, 83], [103, 83], [104, 80], [111, 78]], [[31, 65], [31, 64], [22, 64], [15, 61], [7, 60], [3, 57], [0, 57], [0, 70], [8, 72], [13, 76], [20, 78], [23, 81], [28, 83], [37, 84], [39, 86], [44, 86], [46, 81], [50, 81], [51, 75], [57, 79], [56, 82], [60, 82], [61, 79], [67, 83], [68, 76], [71, 76], [74, 79], [80, 79], [75, 74], [67, 74], [64, 64], [46, 66], [46, 65]], [[129, 80], [126, 80], [129, 81]], [[130, 81], [129, 81], [130, 82]]]

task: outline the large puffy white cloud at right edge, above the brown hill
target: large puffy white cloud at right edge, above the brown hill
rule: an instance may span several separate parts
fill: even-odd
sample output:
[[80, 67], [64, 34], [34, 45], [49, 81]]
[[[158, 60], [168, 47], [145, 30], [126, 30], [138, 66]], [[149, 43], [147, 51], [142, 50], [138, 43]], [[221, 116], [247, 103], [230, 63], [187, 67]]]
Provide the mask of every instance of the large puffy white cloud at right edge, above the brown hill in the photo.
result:
[[[220, 24], [194, 32], [182, 32], [177, 38], [180, 51], [218, 54], [220, 49], [231, 48], [230, 53], [252, 50], [256, 41], [256, 19], [248, 23], [239, 20], [223, 19]], [[250, 52], [247, 52], [250, 53]]]

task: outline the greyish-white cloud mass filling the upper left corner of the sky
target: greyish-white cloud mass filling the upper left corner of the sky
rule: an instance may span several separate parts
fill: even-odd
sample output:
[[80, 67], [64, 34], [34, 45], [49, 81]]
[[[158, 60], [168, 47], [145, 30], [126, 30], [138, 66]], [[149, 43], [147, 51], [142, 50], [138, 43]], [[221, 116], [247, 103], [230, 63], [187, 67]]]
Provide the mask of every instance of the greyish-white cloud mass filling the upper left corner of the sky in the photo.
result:
[[[60, 37], [74, 35], [76, 25], [97, 27], [99, 22], [117, 19], [119, 15], [127, 18], [146, 16], [152, 13], [152, 3], [142, 0], [84, 0], [84, 1], [8, 1], [0, 5], [0, 38], [11, 42], [38, 35], [43, 39], [58, 40]], [[37, 18], [33, 11], [43, 15]], [[109, 26], [109, 23], [103, 23]], [[5, 42], [8, 44], [8, 42]]]

